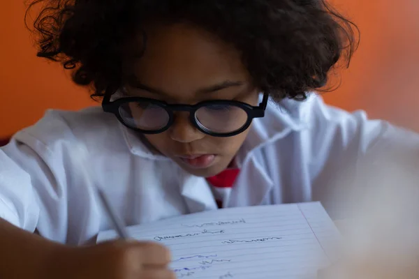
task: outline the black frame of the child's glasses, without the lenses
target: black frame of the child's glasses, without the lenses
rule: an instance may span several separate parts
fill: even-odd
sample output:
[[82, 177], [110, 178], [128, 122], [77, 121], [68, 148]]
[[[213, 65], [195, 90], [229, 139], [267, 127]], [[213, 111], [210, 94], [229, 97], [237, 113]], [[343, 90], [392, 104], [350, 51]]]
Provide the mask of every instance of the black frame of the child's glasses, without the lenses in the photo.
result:
[[[249, 126], [251, 125], [251, 122], [255, 118], [262, 118], [265, 116], [265, 110], [267, 107], [267, 100], [269, 99], [268, 93], [263, 93], [263, 100], [259, 103], [258, 106], [252, 106], [247, 103], [243, 103], [237, 100], [205, 100], [203, 102], [197, 103], [195, 105], [183, 105], [183, 104], [168, 104], [161, 100], [155, 100], [152, 98], [142, 98], [142, 97], [125, 97], [125, 98], [119, 98], [117, 100], [111, 101], [112, 94], [106, 94], [102, 100], [102, 109], [104, 112], [112, 113], [115, 116], [117, 116], [117, 119], [119, 122], [121, 122], [124, 126], [127, 128], [130, 128], [132, 130], [138, 131], [145, 135], [156, 135], [165, 132], [168, 130], [173, 123], [175, 122], [175, 112], [189, 112], [189, 121], [191, 124], [200, 130], [200, 132], [211, 135], [213, 137], [233, 137], [235, 135], [239, 135], [243, 133]], [[166, 110], [168, 114], [168, 123], [163, 128], [160, 128], [159, 130], [142, 130], [140, 128], [134, 128], [132, 126], [129, 126], [126, 121], [121, 116], [121, 113], [119, 112], [119, 107], [126, 103], [151, 103], [154, 105], [159, 105], [163, 110]], [[231, 133], [214, 133], [211, 130], [205, 128], [202, 124], [199, 123], [198, 119], [196, 119], [196, 112], [201, 108], [205, 107], [207, 105], [233, 105], [235, 107], [240, 107], [244, 112], [247, 113], [247, 121], [244, 123], [242, 128], [235, 130]]]

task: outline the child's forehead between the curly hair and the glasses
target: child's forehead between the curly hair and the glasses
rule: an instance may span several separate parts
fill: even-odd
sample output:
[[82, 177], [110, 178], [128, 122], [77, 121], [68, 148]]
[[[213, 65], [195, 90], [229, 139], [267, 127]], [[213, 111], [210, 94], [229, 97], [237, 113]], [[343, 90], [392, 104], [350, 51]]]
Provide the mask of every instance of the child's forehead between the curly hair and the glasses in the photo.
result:
[[[154, 24], [145, 28], [144, 54], [131, 63], [131, 74], [162, 91], [190, 92], [225, 80], [247, 82], [240, 52], [191, 24]], [[142, 41], [132, 47], [142, 49]]]

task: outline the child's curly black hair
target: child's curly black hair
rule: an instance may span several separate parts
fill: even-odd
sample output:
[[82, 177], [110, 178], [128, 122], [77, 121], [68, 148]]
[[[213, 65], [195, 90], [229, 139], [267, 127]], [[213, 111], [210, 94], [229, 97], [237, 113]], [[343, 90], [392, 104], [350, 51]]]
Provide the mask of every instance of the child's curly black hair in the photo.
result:
[[122, 87], [124, 45], [151, 20], [189, 22], [232, 43], [256, 86], [277, 100], [321, 89], [358, 47], [358, 28], [325, 0], [36, 0], [27, 14], [39, 4], [38, 56], [73, 69], [92, 97]]

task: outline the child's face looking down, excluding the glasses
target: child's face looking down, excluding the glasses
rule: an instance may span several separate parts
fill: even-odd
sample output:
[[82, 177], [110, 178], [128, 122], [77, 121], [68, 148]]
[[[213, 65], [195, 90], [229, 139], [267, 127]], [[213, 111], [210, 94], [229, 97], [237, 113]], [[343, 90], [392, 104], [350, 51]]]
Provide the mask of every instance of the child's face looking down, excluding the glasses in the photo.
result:
[[[146, 33], [144, 54], [128, 62], [125, 89], [129, 96], [169, 104], [238, 100], [258, 105], [258, 89], [231, 45], [188, 24], [153, 25]], [[175, 112], [168, 130], [145, 138], [187, 172], [207, 177], [228, 167], [247, 132], [233, 137], [205, 135], [189, 121], [189, 112]]]

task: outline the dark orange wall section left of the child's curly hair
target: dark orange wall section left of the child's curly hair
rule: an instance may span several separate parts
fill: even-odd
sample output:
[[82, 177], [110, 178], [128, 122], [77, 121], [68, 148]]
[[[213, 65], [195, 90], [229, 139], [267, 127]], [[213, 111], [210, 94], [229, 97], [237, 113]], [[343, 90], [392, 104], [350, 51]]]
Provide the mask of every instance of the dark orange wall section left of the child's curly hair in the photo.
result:
[[24, 27], [24, 0], [0, 3], [0, 137], [39, 119], [46, 109], [80, 109], [93, 102], [57, 63], [36, 57]]

